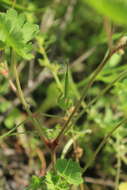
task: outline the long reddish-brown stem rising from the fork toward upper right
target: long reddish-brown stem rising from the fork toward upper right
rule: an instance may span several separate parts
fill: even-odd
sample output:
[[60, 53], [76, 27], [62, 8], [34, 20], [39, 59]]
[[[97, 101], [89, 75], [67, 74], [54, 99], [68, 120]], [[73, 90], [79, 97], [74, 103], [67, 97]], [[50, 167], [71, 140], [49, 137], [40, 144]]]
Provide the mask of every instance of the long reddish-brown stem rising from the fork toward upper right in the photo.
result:
[[[125, 46], [125, 45], [124, 45], [124, 46]], [[60, 133], [59, 133], [58, 136], [56, 137], [56, 139], [57, 139], [58, 141], [62, 138], [62, 136], [63, 136], [63, 134], [64, 134], [66, 128], [67, 128], [67, 127], [69, 126], [69, 124], [70, 124], [70, 121], [72, 120], [72, 118], [73, 118], [73, 116], [75, 115], [75, 113], [78, 111], [78, 109], [79, 109], [79, 107], [80, 107], [82, 101], [86, 98], [86, 95], [87, 95], [87, 93], [88, 93], [88, 90], [91, 88], [91, 86], [92, 86], [92, 84], [94, 83], [94, 81], [95, 81], [97, 75], [102, 71], [103, 67], [106, 65], [106, 63], [108, 62], [108, 60], [112, 57], [112, 55], [113, 55], [114, 53], [116, 53], [116, 52], [117, 52], [119, 49], [121, 49], [121, 48], [123, 48], [123, 45], [122, 45], [122, 46], [119, 46], [119, 47], [117, 47], [117, 48], [115, 48], [115, 49], [113, 49], [111, 52], [108, 52], [108, 53], [106, 54], [106, 56], [104, 57], [104, 59], [102, 60], [101, 64], [97, 67], [97, 69], [96, 69], [95, 72], [93, 73], [91, 79], [89, 80], [88, 84], [87, 84], [86, 87], [84, 88], [84, 90], [83, 90], [83, 92], [82, 92], [82, 96], [81, 96], [81, 98], [79, 99], [79, 101], [76, 103], [74, 110], [72, 111], [72, 113], [70, 114], [68, 120], [67, 120], [67, 121], [65, 122], [65, 124], [63, 125], [62, 130], [60, 131]], [[69, 129], [69, 128], [70, 128], [70, 126], [68, 127], [68, 129]]]

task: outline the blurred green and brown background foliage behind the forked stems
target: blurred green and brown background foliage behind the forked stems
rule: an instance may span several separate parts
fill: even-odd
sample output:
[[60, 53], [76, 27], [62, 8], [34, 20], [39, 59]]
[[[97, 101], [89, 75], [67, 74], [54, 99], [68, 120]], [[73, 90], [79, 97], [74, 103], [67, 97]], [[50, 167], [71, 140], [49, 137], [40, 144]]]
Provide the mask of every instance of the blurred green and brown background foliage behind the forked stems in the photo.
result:
[[[113, 0], [107, 2], [113, 3]], [[95, 1], [94, 4], [92, 0], [0, 0], [1, 12], [14, 7], [19, 13], [23, 12], [29, 22], [40, 26], [40, 33], [34, 41], [34, 59], [25, 61], [19, 58], [17, 61], [26, 99], [48, 138], [53, 139], [60, 131], [66, 119], [64, 117], [68, 116], [79, 99], [88, 78], [107, 49], [126, 36], [127, 16], [124, 9], [127, 8], [117, 4], [111, 4], [111, 7], [103, 4], [102, 8], [99, 3], [106, 1]], [[118, 18], [115, 17], [115, 6]], [[118, 78], [121, 72], [127, 71], [126, 50], [121, 51], [112, 56], [97, 76], [80, 111]], [[1, 54], [0, 73], [8, 62], [8, 52], [4, 60]], [[90, 104], [64, 137], [58, 156], [65, 144], [76, 136], [76, 145], [70, 147], [66, 157], [74, 158], [75, 146], [80, 148], [83, 152], [80, 165], [83, 167], [103, 137], [121, 118], [127, 117], [126, 76], [126, 73], [121, 75], [104, 96]], [[20, 127], [16, 127], [24, 120]], [[50, 156], [3, 74], [0, 75], [0, 127], [0, 188], [6, 190], [10, 186], [22, 190], [30, 175], [39, 171], [42, 154], [45, 154], [47, 164]], [[4, 134], [13, 129], [10, 137], [7, 135], [7, 138], [3, 138]], [[127, 181], [127, 124], [113, 134], [84, 178], [88, 190], [110, 190], [114, 189], [117, 180], [120, 183]], [[127, 189], [121, 187], [120, 190]]]

